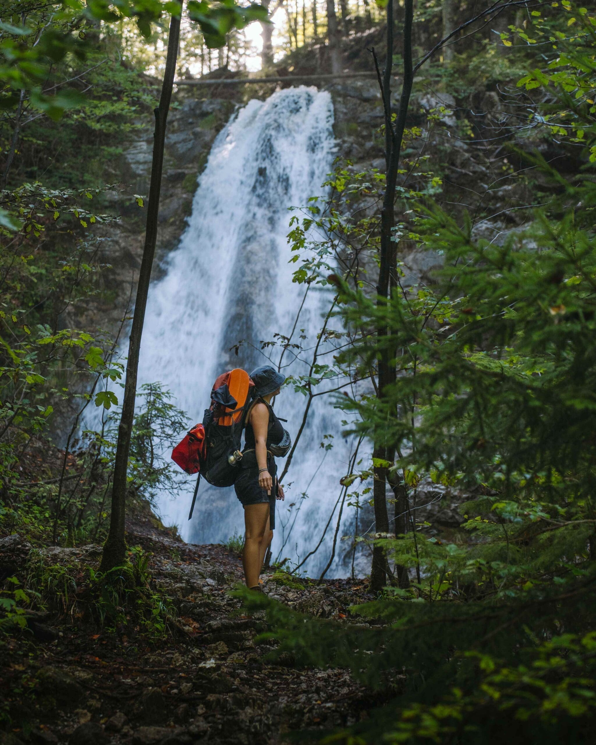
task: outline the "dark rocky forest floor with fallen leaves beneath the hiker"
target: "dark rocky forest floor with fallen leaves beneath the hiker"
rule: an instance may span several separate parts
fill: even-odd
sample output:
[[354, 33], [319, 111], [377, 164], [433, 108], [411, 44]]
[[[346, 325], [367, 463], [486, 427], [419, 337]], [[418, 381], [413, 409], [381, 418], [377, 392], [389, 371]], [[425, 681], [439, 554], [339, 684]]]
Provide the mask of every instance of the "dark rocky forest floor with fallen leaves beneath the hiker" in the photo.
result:
[[[230, 595], [242, 569], [225, 546], [186, 544], [150, 517], [130, 522], [127, 540], [150, 557], [154, 597], [177, 611], [165, 632], [89, 618], [81, 577], [98, 566], [100, 546], [31, 553], [20, 536], [0, 539], [4, 574], [21, 576], [35, 555], [37, 576], [46, 577], [45, 587], [38, 580], [42, 597], [48, 577], [60, 590], [59, 607], [38, 603], [25, 630], [0, 639], [1, 744], [276, 744], [291, 732], [318, 739], [383, 703], [349, 671], [268, 659], [271, 642], [256, 638], [263, 618], [243, 614]], [[51, 571], [40, 574], [39, 566]], [[272, 572], [263, 587], [301, 612], [342, 623], [363, 623], [348, 608], [370, 599], [362, 580], [315, 583]]]

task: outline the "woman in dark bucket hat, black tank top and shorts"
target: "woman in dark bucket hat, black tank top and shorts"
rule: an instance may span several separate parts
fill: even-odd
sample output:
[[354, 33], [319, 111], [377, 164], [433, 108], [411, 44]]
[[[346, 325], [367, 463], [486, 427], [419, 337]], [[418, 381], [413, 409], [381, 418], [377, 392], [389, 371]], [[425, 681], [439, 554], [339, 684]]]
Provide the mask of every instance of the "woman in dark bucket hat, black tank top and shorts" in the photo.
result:
[[284, 498], [274, 456], [287, 455], [291, 440], [270, 403], [279, 393], [285, 376], [273, 367], [264, 366], [253, 370], [250, 378], [255, 384], [256, 400], [247, 414], [244, 457], [234, 489], [244, 507], [244, 576], [247, 587], [261, 592], [259, 574], [273, 538], [275, 501]]

